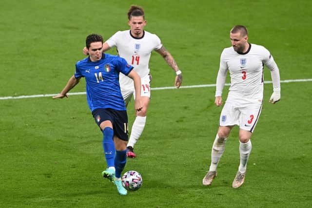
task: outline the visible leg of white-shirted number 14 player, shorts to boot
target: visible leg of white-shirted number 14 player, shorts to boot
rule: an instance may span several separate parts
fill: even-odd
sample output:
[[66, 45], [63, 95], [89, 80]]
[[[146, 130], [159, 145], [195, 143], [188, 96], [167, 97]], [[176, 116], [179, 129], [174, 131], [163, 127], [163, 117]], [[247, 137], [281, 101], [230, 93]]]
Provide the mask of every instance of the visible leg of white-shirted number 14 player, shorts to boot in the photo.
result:
[[135, 144], [137, 143], [137, 140], [141, 136], [146, 124], [146, 114], [150, 102], [150, 96], [151, 96], [150, 78], [149, 76], [146, 76], [141, 79], [141, 103], [143, 105], [143, 109], [137, 112], [136, 119], [132, 125], [129, 142], [127, 144], [128, 157], [132, 158], [136, 157], [136, 154], [134, 153], [133, 149]]

